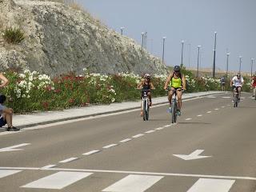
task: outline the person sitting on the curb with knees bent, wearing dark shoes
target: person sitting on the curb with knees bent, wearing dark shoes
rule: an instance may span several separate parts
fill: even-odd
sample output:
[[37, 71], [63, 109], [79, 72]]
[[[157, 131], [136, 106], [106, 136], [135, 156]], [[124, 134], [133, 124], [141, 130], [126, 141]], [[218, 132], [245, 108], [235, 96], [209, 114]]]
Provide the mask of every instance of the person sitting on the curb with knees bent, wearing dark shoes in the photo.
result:
[[6, 96], [0, 95], [0, 127], [8, 125], [7, 131], [17, 131], [19, 128], [13, 126], [13, 114], [14, 110], [3, 106], [3, 103], [6, 101]]

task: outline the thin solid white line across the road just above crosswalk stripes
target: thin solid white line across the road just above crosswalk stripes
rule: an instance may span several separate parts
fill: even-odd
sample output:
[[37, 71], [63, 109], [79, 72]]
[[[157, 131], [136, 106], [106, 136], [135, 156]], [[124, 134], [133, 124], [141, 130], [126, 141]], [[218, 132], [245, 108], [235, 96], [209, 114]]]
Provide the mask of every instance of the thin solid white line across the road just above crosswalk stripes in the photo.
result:
[[[41, 170], [38, 167], [8, 167], [0, 166], [0, 170]], [[47, 170], [55, 171], [78, 171], [78, 172], [95, 172], [95, 173], [114, 173], [114, 174], [146, 174], [146, 175], [161, 175], [161, 176], [179, 176], [179, 177], [190, 177], [190, 178], [224, 178], [224, 179], [242, 179], [256, 181], [256, 178], [252, 177], [239, 177], [239, 176], [228, 176], [228, 175], [210, 175], [210, 174], [172, 174], [172, 173], [158, 173], [158, 172], [136, 172], [126, 170], [84, 170], [84, 169], [63, 169], [63, 168], [49, 168]]]

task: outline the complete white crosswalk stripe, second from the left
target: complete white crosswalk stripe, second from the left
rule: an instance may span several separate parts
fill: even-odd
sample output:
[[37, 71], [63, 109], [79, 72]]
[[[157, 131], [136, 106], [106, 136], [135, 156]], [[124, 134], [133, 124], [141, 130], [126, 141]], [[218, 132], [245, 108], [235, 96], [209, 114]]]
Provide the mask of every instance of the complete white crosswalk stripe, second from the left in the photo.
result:
[[72, 183], [88, 177], [90, 174], [92, 173], [60, 171], [21, 187], [61, 190], [65, 186], [70, 186]]

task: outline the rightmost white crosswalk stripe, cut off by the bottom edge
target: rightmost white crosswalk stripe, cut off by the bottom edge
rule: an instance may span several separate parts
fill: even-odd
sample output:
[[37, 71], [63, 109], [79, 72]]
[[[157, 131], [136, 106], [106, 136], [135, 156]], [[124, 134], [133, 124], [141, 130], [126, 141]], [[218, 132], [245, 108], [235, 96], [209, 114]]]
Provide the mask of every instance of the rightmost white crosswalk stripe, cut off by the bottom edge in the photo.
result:
[[234, 180], [199, 178], [187, 192], [228, 192]]

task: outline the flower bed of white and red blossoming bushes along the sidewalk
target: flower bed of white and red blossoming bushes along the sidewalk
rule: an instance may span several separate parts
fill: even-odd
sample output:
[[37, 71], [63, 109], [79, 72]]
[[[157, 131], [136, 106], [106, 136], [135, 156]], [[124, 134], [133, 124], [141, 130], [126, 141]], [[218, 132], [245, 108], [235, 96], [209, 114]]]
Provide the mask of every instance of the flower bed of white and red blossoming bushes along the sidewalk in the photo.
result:
[[[194, 78], [187, 70], [182, 73], [186, 75], [188, 92], [220, 89], [218, 80]], [[23, 74], [7, 71], [5, 75], [10, 82], [1, 91], [8, 98], [6, 106], [13, 108], [16, 113], [140, 99], [140, 91], [135, 88], [142, 77], [133, 73], [90, 74], [85, 69], [83, 75], [66, 74], [57, 78], [30, 70], [25, 70]], [[153, 97], [166, 95], [163, 90], [165, 81], [164, 75], [152, 77], [156, 88], [152, 91]]]

